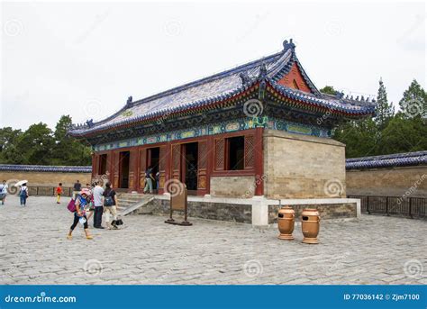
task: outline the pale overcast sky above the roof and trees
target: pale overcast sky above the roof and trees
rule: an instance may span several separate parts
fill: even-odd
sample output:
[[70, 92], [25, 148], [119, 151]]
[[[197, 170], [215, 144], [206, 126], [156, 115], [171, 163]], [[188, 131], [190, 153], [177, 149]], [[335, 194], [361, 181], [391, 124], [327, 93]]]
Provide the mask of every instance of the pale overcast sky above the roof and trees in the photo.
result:
[[3, 3], [0, 127], [51, 128], [282, 50], [314, 85], [399, 101], [425, 88], [423, 2]]

